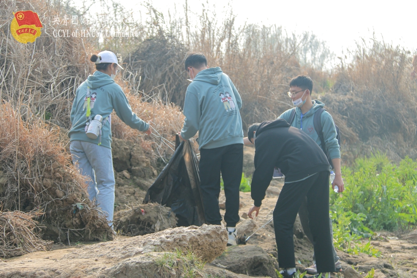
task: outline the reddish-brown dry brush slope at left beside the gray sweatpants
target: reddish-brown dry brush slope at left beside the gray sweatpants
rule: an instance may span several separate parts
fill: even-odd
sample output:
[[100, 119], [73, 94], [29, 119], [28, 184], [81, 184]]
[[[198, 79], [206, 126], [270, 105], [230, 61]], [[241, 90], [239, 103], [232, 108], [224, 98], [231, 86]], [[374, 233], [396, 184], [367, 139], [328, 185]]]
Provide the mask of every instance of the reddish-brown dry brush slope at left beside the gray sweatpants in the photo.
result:
[[45, 237], [54, 241], [110, 239], [58, 133], [39, 118], [23, 121], [8, 102], [0, 107], [0, 203], [4, 210], [42, 212]]

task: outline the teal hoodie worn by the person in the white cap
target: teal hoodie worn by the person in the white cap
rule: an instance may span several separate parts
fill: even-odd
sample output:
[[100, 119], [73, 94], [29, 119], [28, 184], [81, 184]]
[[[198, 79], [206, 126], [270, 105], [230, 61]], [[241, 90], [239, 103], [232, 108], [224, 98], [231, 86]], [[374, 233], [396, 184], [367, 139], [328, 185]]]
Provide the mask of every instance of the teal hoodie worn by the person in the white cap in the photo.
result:
[[113, 112], [113, 109], [116, 111], [117, 116], [131, 128], [140, 131], [148, 130], [149, 125], [132, 112], [132, 108], [120, 86], [108, 74], [96, 71], [87, 80], [82, 82], [76, 91], [71, 109], [71, 122], [73, 126], [70, 132], [68, 132], [70, 141], [85, 141], [98, 144], [99, 139], [90, 139], [84, 130], [87, 122], [87, 118], [85, 117], [87, 86], [90, 87], [91, 94], [91, 118], [93, 119], [95, 115], [101, 115], [103, 119], [109, 117], [101, 128], [101, 146], [111, 149], [112, 131], [110, 114]]

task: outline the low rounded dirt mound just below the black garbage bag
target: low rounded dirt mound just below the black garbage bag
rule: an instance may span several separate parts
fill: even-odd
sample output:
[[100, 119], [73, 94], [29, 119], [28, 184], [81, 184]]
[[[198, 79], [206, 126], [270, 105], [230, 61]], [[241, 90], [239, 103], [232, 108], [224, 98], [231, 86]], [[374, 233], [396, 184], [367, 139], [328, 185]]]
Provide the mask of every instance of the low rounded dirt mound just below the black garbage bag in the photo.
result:
[[136, 236], [175, 228], [177, 218], [170, 207], [148, 203], [115, 213], [114, 223], [116, 231]]

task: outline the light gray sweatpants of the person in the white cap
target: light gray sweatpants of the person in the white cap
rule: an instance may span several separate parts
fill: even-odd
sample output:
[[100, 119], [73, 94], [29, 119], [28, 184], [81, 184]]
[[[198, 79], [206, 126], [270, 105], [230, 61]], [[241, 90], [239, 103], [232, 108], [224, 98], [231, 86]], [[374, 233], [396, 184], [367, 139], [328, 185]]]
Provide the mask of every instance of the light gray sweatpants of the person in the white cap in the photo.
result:
[[71, 157], [83, 176], [91, 180], [87, 191], [101, 208], [111, 226], [114, 212], [114, 172], [112, 150], [90, 142], [72, 141]]

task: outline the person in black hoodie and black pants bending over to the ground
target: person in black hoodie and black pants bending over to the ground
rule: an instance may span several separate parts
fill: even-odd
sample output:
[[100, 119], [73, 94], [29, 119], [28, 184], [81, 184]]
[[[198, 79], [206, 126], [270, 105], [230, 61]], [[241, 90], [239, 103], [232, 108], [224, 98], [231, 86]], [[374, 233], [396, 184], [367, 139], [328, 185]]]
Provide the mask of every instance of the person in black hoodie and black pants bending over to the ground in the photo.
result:
[[253, 124], [249, 127], [248, 138], [255, 144], [251, 184], [254, 206], [249, 210], [250, 218], [253, 212], [256, 216], [259, 213], [274, 167], [285, 175], [273, 212], [278, 262], [284, 268], [281, 271], [284, 278], [294, 276], [296, 271], [292, 229], [305, 196], [317, 271], [335, 272], [328, 221], [329, 165], [322, 149], [305, 132], [290, 127], [284, 119]]

